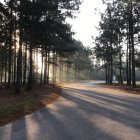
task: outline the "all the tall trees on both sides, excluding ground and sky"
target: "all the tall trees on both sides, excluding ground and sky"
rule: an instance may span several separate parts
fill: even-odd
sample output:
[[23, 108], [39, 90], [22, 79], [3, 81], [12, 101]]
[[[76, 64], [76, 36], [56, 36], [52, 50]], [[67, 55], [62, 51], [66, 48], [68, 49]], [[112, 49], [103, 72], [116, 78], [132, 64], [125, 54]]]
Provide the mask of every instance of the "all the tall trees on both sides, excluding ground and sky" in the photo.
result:
[[[140, 67], [140, 4], [105, 1], [94, 50], [73, 38], [66, 18], [80, 0], [6, 0], [0, 3], [0, 82], [20, 93], [35, 84], [55, 84], [113, 75], [136, 87]], [[93, 59], [96, 57], [96, 60]], [[102, 65], [98, 66], [98, 60]], [[94, 63], [96, 61], [96, 63]], [[99, 69], [102, 71], [99, 72]], [[104, 74], [104, 75], [103, 75]]]

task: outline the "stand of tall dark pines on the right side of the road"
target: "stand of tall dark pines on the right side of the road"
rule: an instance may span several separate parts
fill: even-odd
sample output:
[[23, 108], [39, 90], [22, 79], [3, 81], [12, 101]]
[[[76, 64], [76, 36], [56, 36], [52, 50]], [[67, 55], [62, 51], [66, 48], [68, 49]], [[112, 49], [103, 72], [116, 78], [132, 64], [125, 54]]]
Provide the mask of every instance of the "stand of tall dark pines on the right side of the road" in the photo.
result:
[[114, 0], [105, 3], [100, 35], [94, 40], [94, 54], [103, 62], [101, 68], [106, 83], [112, 84], [113, 75], [117, 75], [120, 84], [126, 80], [127, 85], [136, 87], [136, 80], [140, 80], [140, 2]]

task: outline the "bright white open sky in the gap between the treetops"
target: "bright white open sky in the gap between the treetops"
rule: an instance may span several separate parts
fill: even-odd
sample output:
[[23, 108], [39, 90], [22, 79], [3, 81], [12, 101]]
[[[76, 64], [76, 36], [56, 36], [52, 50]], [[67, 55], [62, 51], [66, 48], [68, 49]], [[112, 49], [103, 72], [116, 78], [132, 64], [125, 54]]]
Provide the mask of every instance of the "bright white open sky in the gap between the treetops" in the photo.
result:
[[102, 0], [83, 0], [77, 18], [67, 21], [76, 33], [74, 38], [80, 40], [85, 46], [90, 46], [93, 42], [91, 36], [98, 35], [96, 27], [98, 27], [100, 21], [99, 11], [103, 12], [104, 9], [105, 5]]

